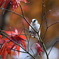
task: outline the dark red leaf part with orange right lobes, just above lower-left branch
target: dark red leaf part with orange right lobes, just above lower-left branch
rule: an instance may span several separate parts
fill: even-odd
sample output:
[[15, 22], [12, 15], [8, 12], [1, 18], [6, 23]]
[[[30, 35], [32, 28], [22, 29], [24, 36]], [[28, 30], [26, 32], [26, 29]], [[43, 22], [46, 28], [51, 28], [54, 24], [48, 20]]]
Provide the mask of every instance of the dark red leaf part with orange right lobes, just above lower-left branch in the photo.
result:
[[14, 40], [15, 42], [18, 42], [26, 49], [26, 44], [25, 44], [26, 37], [24, 35], [11, 36], [11, 39]]

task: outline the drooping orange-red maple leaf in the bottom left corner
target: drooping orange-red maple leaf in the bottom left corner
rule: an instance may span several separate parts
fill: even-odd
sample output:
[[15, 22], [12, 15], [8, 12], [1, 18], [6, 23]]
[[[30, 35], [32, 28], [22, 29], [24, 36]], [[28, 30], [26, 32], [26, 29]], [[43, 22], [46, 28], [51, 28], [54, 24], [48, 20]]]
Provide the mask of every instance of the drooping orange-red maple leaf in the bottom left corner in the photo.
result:
[[11, 50], [10, 48], [8, 47], [8, 43], [5, 42], [2, 46], [2, 48], [0, 49], [0, 55], [2, 55], [2, 58], [3, 59], [6, 59], [6, 54], [11, 54]]

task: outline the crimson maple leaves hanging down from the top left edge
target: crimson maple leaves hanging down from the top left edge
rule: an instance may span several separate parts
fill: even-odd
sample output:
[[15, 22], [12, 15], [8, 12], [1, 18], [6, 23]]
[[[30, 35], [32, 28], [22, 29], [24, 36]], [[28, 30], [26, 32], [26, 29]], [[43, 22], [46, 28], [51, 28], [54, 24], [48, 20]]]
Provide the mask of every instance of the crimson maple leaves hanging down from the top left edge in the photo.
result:
[[4, 4], [4, 8], [6, 8], [8, 3], [10, 2], [13, 9], [15, 9], [19, 6], [20, 1], [27, 3], [27, 0], [0, 0], [0, 7]]

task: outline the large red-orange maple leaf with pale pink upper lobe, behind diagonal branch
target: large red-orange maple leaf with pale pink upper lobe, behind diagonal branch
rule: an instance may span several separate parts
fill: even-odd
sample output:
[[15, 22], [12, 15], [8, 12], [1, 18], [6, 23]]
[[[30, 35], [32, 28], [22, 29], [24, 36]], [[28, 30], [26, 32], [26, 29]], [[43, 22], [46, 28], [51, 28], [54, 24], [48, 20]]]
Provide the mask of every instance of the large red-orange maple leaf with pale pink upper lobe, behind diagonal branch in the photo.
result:
[[6, 32], [9, 35], [9, 38], [12, 39], [10, 41], [8, 38], [5, 38], [5, 41], [10, 42], [9, 47], [11, 49], [14, 48], [18, 50], [18, 55], [19, 55], [20, 46], [16, 45], [12, 41], [21, 44], [26, 49], [26, 44], [25, 44], [26, 37], [24, 35], [18, 35], [17, 29], [15, 29], [15, 31], [4, 31], [4, 32]]

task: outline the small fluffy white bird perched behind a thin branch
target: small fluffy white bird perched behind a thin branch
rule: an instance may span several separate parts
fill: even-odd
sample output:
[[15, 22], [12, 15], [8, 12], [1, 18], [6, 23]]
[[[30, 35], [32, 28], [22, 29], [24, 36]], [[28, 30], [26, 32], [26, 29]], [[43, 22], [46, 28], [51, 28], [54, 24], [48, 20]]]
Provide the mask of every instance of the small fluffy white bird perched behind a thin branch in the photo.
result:
[[[40, 24], [38, 23], [37, 19], [32, 19], [30, 25], [33, 27], [33, 29], [35, 29], [35, 31], [39, 32], [39, 36], [40, 36], [40, 30], [39, 30]], [[38, 39], [39, 37], [38, 37], [37, 33], [32, 29], [31, 26], [29, 26], [29, 32], [31, 33], [31, 36]]]

